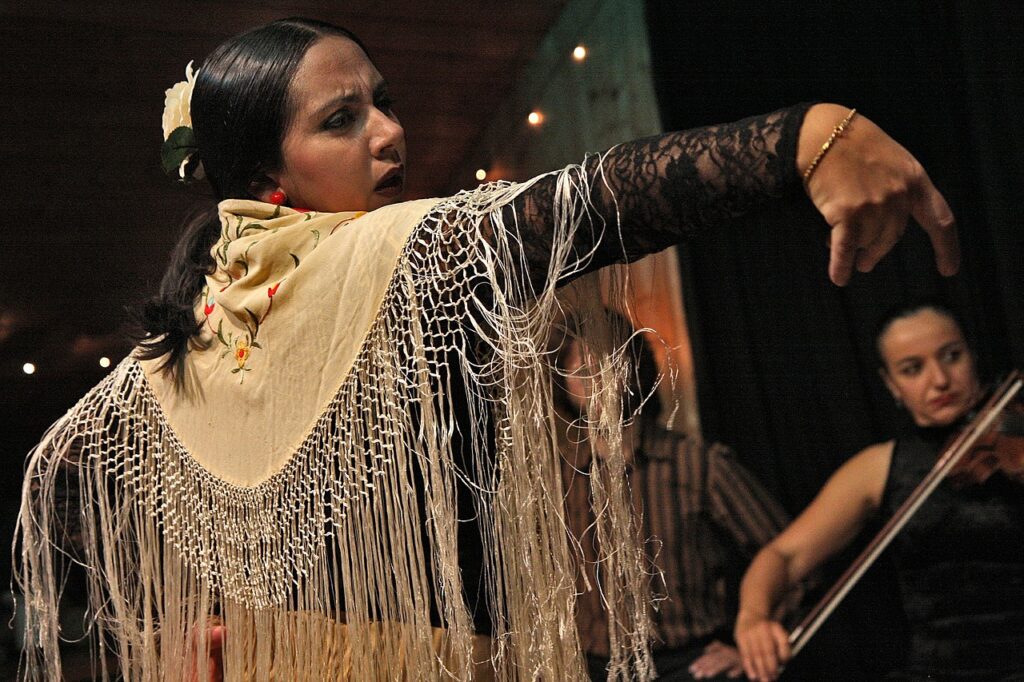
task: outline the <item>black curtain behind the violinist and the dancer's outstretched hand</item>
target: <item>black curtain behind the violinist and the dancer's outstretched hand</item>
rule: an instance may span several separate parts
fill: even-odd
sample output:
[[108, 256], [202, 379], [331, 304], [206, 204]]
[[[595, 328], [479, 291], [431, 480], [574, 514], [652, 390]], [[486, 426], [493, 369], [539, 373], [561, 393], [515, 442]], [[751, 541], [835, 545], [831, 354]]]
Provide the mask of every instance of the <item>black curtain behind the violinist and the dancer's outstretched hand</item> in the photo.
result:
[[[746, 216], [686, 249], [706, 435], [735, 445], [798, 513], [843, 461], [897, 425], [871, 340], [876, 318], [893, 303], [945, 296], [963, 310], [989, 374], [1024, 367], [1024, 225], [1016, 210], [1024, 189], [1024, 9], [968, 0], [648, 0], [647, 14], [666, 129], [802, 100], [857, 106], [922, 161], [957, 216], [964, 264], [948, 280], [913, 227], [874, 272], [833, 286], [826, 228], [806, 201]], [[810, 679], [872, 679], [898, 658], [891, 570], [872, 573], [808, 649], [808, 662], [827, 660]], [[813, 665], [800, 663], [791, 677]]]

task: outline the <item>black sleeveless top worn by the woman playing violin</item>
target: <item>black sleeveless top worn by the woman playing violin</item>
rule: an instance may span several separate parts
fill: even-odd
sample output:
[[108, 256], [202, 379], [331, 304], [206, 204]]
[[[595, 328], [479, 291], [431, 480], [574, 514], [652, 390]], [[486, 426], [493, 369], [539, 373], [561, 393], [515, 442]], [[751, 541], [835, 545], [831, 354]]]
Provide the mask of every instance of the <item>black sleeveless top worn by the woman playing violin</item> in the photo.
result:
[[[886, 518], [935, 464], [949, 429], [898, 438]], [[910, 625], [895, 679], [1024, 680], [1024, 485], [997, 472], [985, 483], [943, 481], [893, 542]]]

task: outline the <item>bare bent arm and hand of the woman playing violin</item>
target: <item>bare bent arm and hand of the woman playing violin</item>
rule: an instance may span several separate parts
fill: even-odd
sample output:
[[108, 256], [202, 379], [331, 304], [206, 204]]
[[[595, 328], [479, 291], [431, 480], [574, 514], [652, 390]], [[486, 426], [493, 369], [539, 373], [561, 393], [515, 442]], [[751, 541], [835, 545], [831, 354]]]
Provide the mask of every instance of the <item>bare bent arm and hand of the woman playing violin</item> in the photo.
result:
[[773, 680], [790, 657], [772, 620], [785, 593], [852, 541], [882, 503], [892, 441], [871, 445], [833, 474], [814, 501], [754, 558], [739, 589], [736, 644], [753, 680]]

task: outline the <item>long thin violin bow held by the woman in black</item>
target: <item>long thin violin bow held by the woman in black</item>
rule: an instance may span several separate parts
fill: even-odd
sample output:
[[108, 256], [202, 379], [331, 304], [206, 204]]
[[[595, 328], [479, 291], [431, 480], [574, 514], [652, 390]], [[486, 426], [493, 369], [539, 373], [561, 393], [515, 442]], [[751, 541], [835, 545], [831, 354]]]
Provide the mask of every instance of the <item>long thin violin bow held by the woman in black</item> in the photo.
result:
[[874, 536], [871, 542], [867, 544], [853, 563], [850, 564], [850, 567], [840, 576], [836, 584], [815, 604], [814, 608], [808, 612], [800, 625], [793, 629], [793, 632], [790, 633], [792, 655], [795, 656], [800, 653], [808, 640], [814, 636], [814, 633], [818, 631], [821, 624], [825, 622], [825, 619], [831, 615], [840, 602], [853, 589], [853, 586], [857, 584], [857, 581], [870, 568], [874, 560], [879, 558], [879, 555], [889, 547], [889, 544], [903, 526], [906, 525], [914, 513], [916, 513], [921, 505], [928, 500], [932, 492], [938, 487], [939, 483], [956, 466], [956, 463], [967, 453], [971, 452], [978, 438], [988, 431], [992, 422], [1002, 412], [1004, 408], [1014, 399], [1014, 396], [1020, 391], [1022, 385], [1024, 385], [1024, 379], [1021, 378], [1020, 372], [1016, 370], [1011, 372], [999, 385], [998, 389], [985, 402], [985, 407], [981, 409], [977, 416], [971, 420], [971, 423], [945, 449], [942, 456], [935, 463], [935, 466], [932, 467], [932, 470], [913, 488], [913, 492], [899, 506], [892, 518]]

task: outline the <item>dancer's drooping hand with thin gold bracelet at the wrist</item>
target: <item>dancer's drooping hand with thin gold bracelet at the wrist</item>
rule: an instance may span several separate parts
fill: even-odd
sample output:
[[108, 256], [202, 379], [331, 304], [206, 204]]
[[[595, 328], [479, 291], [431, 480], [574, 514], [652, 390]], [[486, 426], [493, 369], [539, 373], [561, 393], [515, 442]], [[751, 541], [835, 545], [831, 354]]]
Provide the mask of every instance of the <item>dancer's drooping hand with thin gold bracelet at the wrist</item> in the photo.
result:
[[[811, 164], [849, 109], [815, 104], [800, 130], [798, 171]], [[899, 241], [907, 220], [928, 232], [939, 272], [954, 274], [959, 246], [952, 211], [918, 160], [867, 118], [857, 115], [821, 159], [807, 194], [831, 227], [828, 276], [850, 281], [866, 272]]]

